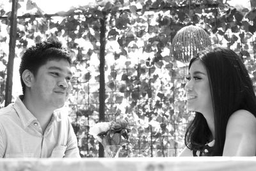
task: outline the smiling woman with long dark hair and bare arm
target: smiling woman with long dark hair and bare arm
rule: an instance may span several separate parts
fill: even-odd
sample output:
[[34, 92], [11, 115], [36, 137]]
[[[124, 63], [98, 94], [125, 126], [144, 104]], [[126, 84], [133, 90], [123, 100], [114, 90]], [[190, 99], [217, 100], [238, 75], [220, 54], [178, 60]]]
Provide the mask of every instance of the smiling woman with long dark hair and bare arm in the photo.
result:
[[189, 63], [187, 108], [195, 112], [179, 156], [255, 156], [256, 97], [235, 52], [216, 47]]

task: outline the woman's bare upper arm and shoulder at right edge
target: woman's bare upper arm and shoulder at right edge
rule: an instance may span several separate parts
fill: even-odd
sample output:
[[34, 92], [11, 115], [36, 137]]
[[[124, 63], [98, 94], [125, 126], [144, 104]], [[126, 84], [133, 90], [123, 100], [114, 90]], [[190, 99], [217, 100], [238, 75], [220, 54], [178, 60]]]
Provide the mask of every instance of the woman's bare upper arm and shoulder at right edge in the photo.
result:
[[256, 117], [237, 110], [228, 119], [223, 156], [255, 156]]

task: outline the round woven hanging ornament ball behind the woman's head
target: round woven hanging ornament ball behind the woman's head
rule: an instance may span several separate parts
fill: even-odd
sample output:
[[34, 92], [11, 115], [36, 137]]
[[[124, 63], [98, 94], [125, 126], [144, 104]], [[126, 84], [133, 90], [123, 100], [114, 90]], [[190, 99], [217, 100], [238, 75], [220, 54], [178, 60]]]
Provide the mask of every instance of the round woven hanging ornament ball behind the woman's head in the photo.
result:
[[174, 58], [178, 61], [189, 62], [197, 52], [211, 46], [211, 39], [202, 27], [190, 25], [177, 32], [172, 45]]

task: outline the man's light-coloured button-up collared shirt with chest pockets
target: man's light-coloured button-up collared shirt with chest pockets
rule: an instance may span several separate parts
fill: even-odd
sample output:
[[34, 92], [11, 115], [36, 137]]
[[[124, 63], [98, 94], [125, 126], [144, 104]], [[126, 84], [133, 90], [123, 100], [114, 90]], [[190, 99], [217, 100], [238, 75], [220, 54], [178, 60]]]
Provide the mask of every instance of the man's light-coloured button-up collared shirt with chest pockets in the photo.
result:
[[0, 109], [1, 158], [80, 158], [67, 114], [54, 111], [44, 133], [36, 117], [17, 98]]

